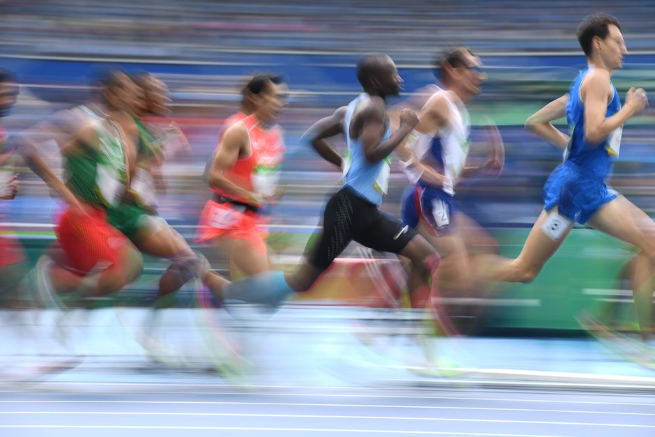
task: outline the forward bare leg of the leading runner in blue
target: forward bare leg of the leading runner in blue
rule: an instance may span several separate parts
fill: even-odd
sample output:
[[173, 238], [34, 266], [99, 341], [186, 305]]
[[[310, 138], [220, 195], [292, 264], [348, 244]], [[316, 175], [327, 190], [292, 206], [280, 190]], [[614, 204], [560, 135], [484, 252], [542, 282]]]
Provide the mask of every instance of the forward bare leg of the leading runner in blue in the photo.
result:
[[594, 214], [589, 224], [641, 250], [633, 277], [633, 298], [641, 335], [648, 339], [654, 331], [655, 223], [631, 201], [619, 196]]

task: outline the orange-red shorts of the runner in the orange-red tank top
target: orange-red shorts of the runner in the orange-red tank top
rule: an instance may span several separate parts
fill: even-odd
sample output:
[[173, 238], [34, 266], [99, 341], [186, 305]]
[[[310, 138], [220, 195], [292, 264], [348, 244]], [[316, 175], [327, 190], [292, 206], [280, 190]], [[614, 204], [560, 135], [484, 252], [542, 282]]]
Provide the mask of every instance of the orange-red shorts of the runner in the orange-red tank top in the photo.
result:
[[263, 231], [262, 221], [261, 214], [244, 206], [210, 200], [200, 214], [198, 241], [203, 243], [213, 238], [249, 240], [258, 250], [265, 252], [264, 240], [268, 233]]

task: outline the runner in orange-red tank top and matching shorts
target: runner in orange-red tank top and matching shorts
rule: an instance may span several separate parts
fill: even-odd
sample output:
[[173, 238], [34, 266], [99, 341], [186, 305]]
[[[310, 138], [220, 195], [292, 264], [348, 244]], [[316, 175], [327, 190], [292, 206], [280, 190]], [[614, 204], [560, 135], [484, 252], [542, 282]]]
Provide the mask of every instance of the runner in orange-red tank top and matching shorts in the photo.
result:
[[[288, 88], [282, 77], [254, 75], [242, 89], [242, 111], [224, 123], [210, 171], [213, 199], [201, 213], [199, 240], [228, 254], [230, 270], [270, 270], [265, 208], [277, 201], [284, 137], [277, 125]], [[252, 111], [252, 114], [247, 112]]]

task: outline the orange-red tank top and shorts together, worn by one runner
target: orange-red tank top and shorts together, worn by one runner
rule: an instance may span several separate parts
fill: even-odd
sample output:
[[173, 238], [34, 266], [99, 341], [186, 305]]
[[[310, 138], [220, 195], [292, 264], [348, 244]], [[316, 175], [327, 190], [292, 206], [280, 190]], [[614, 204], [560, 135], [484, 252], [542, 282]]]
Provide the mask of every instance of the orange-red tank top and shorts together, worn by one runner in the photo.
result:
[[[282, 131], [277, 125], [262, 128], [254, 115], [238, 113], [225, 121], [227, 126], [233, 123], [245, 125], [250, 139], [250, 153], [239, 157], [223, 175], [250, 192], [275, 194], [284, 160]], [[217, 187], [212, 187], [212, 190], [214, 199], [206, 203], [200, 215], [199, 241], [245, 238], [265, 251], [265, 233], [261, 229], [261, 224], [265, 222], [265, 216], [261, 214], [263, 205]]]

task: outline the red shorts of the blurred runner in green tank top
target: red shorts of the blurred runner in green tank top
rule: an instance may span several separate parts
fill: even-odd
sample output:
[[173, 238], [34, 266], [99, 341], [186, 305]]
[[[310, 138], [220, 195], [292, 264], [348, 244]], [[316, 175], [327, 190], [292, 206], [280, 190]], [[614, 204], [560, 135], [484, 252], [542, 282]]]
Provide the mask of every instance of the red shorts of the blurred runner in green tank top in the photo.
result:
[[59, 217], [55, 232], [70, 267], [82, 274], [99, 263], [115, 264], [118, 252], [128, 244], [128, 238], [107, 223], [107, 213], [101, 209], [82, 215], [69, 208]]

